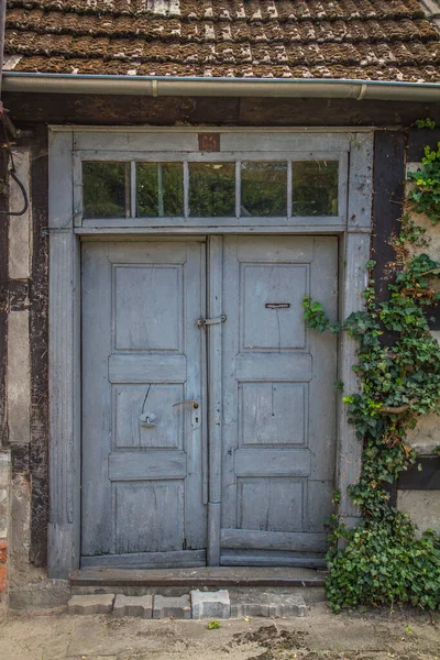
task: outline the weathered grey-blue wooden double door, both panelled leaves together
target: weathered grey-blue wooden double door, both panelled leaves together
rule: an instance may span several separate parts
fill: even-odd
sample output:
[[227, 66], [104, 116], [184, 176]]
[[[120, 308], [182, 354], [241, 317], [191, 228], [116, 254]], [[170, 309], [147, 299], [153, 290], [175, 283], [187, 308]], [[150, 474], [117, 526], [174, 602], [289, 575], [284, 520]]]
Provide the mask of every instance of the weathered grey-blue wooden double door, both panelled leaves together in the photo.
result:
[[322, 562], [338, 241], [213, 243], [84, 244], [84, 566]]

